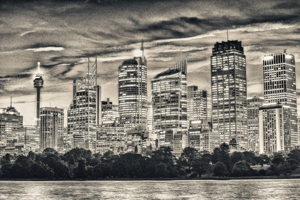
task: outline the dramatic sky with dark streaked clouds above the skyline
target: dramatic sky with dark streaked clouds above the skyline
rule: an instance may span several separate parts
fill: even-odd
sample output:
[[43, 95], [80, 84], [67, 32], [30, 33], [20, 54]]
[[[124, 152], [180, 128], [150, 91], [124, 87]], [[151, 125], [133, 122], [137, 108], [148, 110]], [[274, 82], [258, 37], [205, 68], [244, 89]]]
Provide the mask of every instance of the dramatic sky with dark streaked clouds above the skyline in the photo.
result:
[[[214, 43], [239, 40], [246, 55], [247, 96], [263, 97], [262, 56], [287, 49], [300, 71], [299, 0], [1, 0], [0, 107], [10, 104], [34, 124], [37, 62], [41, 106], [66, 110], [72, 80], [97, 53], [102, 100], [118, 103], [117, 68], [144, 40], [150, 78], [187, 58], [187, 83], [210, 90]], [[300, 113], [300, 72], [296, 75]], [[65, 117], [66, 122], [66, 117]], [[66, 125], [66, 123], [64, 124]]]

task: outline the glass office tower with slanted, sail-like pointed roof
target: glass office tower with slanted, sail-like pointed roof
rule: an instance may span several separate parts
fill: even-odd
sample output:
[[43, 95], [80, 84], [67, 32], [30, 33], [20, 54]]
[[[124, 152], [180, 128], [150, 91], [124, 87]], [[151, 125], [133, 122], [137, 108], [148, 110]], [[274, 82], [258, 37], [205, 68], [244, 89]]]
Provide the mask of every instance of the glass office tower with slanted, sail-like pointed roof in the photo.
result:
[[153, 130], [187, 130], [186, 58], [151, 79]]

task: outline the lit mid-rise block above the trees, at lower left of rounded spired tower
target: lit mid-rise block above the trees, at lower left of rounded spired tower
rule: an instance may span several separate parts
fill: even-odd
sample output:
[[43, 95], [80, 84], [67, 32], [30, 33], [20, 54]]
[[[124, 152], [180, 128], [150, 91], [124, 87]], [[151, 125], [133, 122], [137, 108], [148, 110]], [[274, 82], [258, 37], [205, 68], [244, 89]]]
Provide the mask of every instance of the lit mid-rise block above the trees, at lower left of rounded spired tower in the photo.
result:
[[97, 126], [96, 152], [104, 153], [108, 150], [115, 154], [125, 150], [125, 132], [118, 118], [111, 123], [103, 121], [103, 124]]

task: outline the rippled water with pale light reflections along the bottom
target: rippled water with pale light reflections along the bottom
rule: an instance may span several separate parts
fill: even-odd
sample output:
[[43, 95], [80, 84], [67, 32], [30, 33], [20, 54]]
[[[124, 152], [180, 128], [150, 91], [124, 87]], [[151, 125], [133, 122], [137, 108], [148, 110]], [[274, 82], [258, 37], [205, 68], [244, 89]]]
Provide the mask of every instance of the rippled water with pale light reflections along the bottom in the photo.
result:
[[0, 181], [0, 199], [300, 199], [300, 179]]

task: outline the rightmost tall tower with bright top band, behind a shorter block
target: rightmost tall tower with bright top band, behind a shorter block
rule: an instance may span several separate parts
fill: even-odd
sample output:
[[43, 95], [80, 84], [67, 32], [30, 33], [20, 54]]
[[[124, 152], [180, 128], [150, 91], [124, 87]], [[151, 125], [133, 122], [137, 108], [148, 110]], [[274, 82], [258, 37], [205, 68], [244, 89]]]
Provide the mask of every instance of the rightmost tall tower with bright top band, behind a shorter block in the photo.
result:
[[297, 98], [295, 57], [293, 54], [275, 53], [263, 56], [264, 103], [286, 103], [291, 110], [290, 144], [298, 144], [297, 134]]

